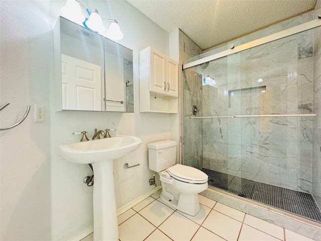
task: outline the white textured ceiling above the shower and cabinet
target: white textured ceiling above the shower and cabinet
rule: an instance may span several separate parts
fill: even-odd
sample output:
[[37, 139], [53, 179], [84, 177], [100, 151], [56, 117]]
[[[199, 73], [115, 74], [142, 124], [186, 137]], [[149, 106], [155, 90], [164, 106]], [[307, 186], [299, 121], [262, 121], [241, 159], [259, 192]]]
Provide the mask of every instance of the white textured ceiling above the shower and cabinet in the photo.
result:
[[159, 27], [202, 50], [310, 11], [316, 0], [127, 0]]

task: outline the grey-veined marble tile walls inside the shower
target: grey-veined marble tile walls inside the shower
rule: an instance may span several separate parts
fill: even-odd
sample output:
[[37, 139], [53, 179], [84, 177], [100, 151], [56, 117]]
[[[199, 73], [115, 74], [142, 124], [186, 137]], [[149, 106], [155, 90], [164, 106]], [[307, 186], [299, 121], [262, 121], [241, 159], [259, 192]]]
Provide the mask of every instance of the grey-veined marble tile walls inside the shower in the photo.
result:
[[[255, 33], [256, 38], [310, 20], [312, 14], [304, 14]], [[202, 79], [197, 79], [203, 93], [199, 101], [202, 112], [197, 116], [317, 113], [316, 86], [313, 99], [313, 76], [317, 76], [317, 67], [313, 58], [320, 55], [317, 49], [320, 37], [315, 37], [313, 31], [212, 61], [202, 75], [203, 78], [214, 78], [216, 85], [201, 86]], [[255, 34], [233, 43], [254, 40]], [[315, 53], [313, 36], [316, 38], [314, 49], [318, 51]], [[203, 52], [194, 59], [208, 55], [209, 52]], [[318, 140], [321, 132], [313, 129], [317, 125], [313, 123], [313, 117], [188, 119], [193, 115], [186, 106], [191, 106], [192, 96], [198, 96], [195, 91], [193, 94], [195, 74], [197, 67], [183, 73], [185, 164], [293, 190], [315, 192], [314, 197], [321, 203], [321, 164], [317, 151], [313, 155], [318, 160], [313, 157], [315, 161], [312, 161], [312, 131]], [[319, 72], [314, 85], [319, 84], [315, 82], [317, 78], [320, 82]], [[197, 142], [202, 142], [203, 146], [197, 147]], [[318, 142], [315, 144], [317, 149], [321, 146]]]

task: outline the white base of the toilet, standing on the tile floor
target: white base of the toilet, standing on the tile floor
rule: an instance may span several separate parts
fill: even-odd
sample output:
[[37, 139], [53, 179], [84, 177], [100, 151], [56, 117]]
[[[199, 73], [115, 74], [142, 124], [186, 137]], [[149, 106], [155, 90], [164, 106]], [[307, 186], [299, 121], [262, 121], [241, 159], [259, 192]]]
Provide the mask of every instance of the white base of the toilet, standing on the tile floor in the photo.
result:
[[[177, 196], [177, 195], [176, 195]], [[195, 216], [200, 211], [200, 202], [198, 194], [186, 194], [181, 193], [178, 195], [178, 199], [175, 196], [167, 192], [166, 190], [162, 190], [161, 199], [168, 205], [182, 211], [191, 216]]]

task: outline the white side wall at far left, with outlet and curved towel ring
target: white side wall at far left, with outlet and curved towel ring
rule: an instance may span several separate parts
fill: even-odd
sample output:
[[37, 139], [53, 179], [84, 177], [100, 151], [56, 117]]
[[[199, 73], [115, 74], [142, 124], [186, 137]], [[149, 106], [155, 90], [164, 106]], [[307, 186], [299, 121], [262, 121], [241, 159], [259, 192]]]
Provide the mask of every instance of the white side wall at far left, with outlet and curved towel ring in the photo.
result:
[[46, 122], [33, 108], [20, 126], [1, 135], [1, 240], [51, 236], [49, 83], [52, 36], [48, 3], [0, 1], [1, 127], [16, 123], [28, 104], [44, 104]]

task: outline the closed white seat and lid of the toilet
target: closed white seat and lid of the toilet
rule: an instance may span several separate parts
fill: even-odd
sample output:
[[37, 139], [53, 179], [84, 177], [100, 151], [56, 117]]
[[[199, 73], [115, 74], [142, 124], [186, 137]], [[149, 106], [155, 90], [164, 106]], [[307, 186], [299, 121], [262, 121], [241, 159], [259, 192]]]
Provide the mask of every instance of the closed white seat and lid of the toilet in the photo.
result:
[[205, 183], [208, 181], [208, 176], [194, 168], [176, 164], [175, 166], [169, 167], [167, 172], [177, 180], [188, 182], [188, 183]]

